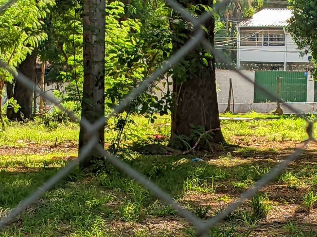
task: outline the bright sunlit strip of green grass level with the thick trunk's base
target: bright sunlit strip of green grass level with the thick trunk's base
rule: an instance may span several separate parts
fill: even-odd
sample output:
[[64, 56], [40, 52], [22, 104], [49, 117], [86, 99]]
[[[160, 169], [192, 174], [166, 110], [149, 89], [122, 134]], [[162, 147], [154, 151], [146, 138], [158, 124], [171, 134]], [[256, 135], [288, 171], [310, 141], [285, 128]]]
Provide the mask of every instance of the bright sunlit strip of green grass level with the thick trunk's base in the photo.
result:
[[[268, 115], [250, 113], [250, 116]], [[229, 115], [228, 115], [229, 116]], [[230, 115], [231, 116], [231, 115]], [[248, 117], [249, 115], [245, 115]], [[271, 116], [271, 115], [269, 115]], [[275, 115], [274, 115], [275, 116]], [[144, 117], [131, 118], [125, 129], [125, 136], [122, 143], [132, 145], [135, 142], [151, 143], [152, 136], [156, 134], [170, 135], [171, 120], [168, 116], [158, 116], [156, 122], [151, 124], [149, 119]], [[276, 120], [252, 120], [252, 121], [222, 121], [222, 131], [227, 142], [231, 143], [235, 136], [256, 136], [264, 137], [268, 141], [303, 141], [307, 139], [305, 132], [306, 122], [294, 116], [280, 116]], [[105, 131], [106, 143], [111, 143], [117, 135], [114, 129], [114, 120], [110, 120]], [[48, 128], [36, 122], [28, 124], [12, 123], [3, 132], [0, 132], [0, 146], [23, 147], [29, 143], [42, 145], [54, 145], [67, 141], [77, 142], [79, 126], [76, 124], [60, 125], [55, 128]]]

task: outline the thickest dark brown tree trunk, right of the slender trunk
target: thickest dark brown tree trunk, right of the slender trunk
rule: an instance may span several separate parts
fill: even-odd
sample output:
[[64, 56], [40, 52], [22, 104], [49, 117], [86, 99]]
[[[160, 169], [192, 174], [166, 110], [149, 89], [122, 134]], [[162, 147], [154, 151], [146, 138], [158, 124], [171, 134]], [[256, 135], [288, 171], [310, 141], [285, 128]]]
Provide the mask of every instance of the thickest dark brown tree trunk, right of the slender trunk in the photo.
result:
[[[213, 1], [191, 0], [190, 2], [191, 4], [202, 3], [211, 6]], [[199, 12], [199, 14], [201, 14], [201, 12]], [[214, 42], [214, 20], [210, 19], [206, 22], [205, 26], [209, 32], [206, 36], [207, 39], [210, 40], [210, 42]], [[172, 27], [176, 33], [175, 38], [178, 37], [177, 34], [179, 33], [189, 34], [185, 28], [179, 30], [180, 25]], [[173, 40], [173, 51], [175, 52], [183, 45], [184, 43], [178, 39]], [[176, 71], [182, 70], [174, 68], [174, 109], [171, 116], [171, 147], [175, 146], [174, 138], [176, 136], [190, 136], [192, 130], [191, 125], [195, 127], [203, 126], [205, 131], [216, 129], [210, 132], [212, 136], [212, 141], [210, 142], [218, 143], [224, 140], [220, 130], [214, 59], [204, 57], [205, 53], [204, 49], [200, 46], [198, 46], [194, 52], [189, 53], [189, 55], [184, 58], [188, 64], [182, 63], [183, 68], [187, 67], [183, 75], [176, 73]], [[202, 59], [203, 57], [207, 60], [207, 65], [205, 65], [206, 61]], [[196, 141], [191, 141], [190, 145], [193, 146], [195, 142]]]

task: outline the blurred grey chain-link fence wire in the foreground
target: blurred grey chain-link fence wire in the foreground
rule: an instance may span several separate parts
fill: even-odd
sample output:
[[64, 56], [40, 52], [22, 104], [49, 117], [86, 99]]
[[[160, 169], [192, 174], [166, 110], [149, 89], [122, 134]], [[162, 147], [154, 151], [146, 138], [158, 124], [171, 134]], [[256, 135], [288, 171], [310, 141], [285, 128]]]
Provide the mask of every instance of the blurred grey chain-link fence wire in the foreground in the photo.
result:
[[[95, 131], [98, 131], [99, 128], [103, 126], [105, 121], [107, 122], [107, 120], [111, 118], [114, 114], [116, 114], [119, 111], [122, 111], [123, 108], [129, 105], [130, 101], [133, 98], [136, 98], [141, 93], [145, 92], [149, 85], [156, 81], [160, 75], [164, 74], [167, 70], [173, 67], [173, 65], [177, 64], [181, 58], [183, 58], [187, 53], [191, 51], [191, 49], [195, 48], [199, 44], [202, 44], [206, 50], [210, 51], [214, 55], [214, 57], [217, 58], [217, 61], [227, 65], [232, 65], [232, 70], [235, 70], [237, 74], [239, 74], [241, 77], [243, 77], [250, 83], [254, 83], [250, 78], [248, 78], [240, 71], [233, 68], [234, 66], [231, 60], [227, 58], [227, 56], [225, 56], [222, 52], [214, 48], [213, 44], [210, 43], [204, 37], [204, 31], [201, 28], [204, 22], [207, 21], [210, 17], [212, 17], [213, 14], [216, 14], [219, 10], [226, 8], [228, 4], [234, 1], [235, 0], [223, 0], [222, 2], [215, 4], [214, 9], [211, 12], [204, 12], [199, 18], [196, 18], [192, 16], [186, 9], [184, 9], [183, 6], [180, 5], [177, 1], [165, 0], [165, 3], [168, 4], [174, 10], [176, 10], [179, 14], [181, 14], [184, 20], [190, 21], [194, 25], [196, 30], [195, 34], [180, 50], [178, 50], [178, 52], [176, 52], [163, 65], [161, 65], [157, 70], [155, 70], [151, 76], [149, 76], [144, 82], [142, 82], [138, 88], [135, 88], [131, 92], [131, 94], [129, 94], [118, 106], [116, 106], [113, 109], [113, 111], [110, 114], [106, 116], [106, 118], [100, 118], [94, 124], [90, 124], [85, 118], [80, 119], [76, 117], [72, 111], [68, 111], [61, 104], [59, 104], [59, 102], [54, 97], [45, 94], [38, 87], [35, 88], [33, 82], [29, 80], [29, 78], [23, 76], [21, 73], [16, 74], [16, 72], [12, 70], [6, 63], [0, 61], [0, 67], [6, 69], [13, 76], [15, 76], [16, 80], [23, 83], [24, 86], [29, 90], [35, 90], [36, 93], [43, 96], [46, 100], [54, 103], [58, 108], [67, 113], [72, 120], [80, 122], [81, 125], [85, 127], [87, 132], [92, 135], [89, 142], [82, 148], [82, 152], [79, 155], [79, 157], [73, 161], [70, 161], [65, 167], [60, 169], [59, 172], [57, 172], [52, 178], [50, 178], [44, 185], [39, 187], [32, 195], [21, 201], [15, 209], [11, 210], [10, 213], [1, 220], [0, 228], [3, 228], [5, 225], [9, 224], [12, 221], [12, 219], [18, 216], [21, 212], [23, 212], [23, 210], [25, 210], [29, 205], [36, 202], [47, 190], [51, 189], [54, 185], [61, 181], [61, 179], [65, 178], [79, 164], [79, 162], [85, 159], [86, 155], [89, 154], [89, 152], [93, 148], [95, 148], [100, 152], [101, 155], [105, 157], [105, 159], [107, 159], [107, 161], [111, 162], [115, 167], [120, 169], [122, 172], [126, 173], [129, 177], [142, 184], [147, 190], [151, 191], [160, 200], [164, 201], [166, 204], [171, 205], [173, 209], [178, 211], [178, 214], [180, 216], [183, 216], [188, 222], [191, 222], [197, 229], [197, 236], [208, 236], [210, 228], [214, 227], [218, 222], [221, 222], [228, 214], [230, 214], [233, 210], [237, 209], [246, 199], [253, 197], [257, 191], [259, 191], [263, 186], [265, 186], [270, 181], [275, 179], [275, 177], [278, 176], [292, 161], [294, 161], [299, 155], [301, 155], [303, 153], [303, 150], [306, 148], [307, 144], [310, 141], [315, 141], [313, 137], [313, 123], [308, 121], [305, 116], [301, 116], [300, 113], [289, 104], [284, 104], [284, 106], [288, 107], [290, 111], [292, 111], [295, 114], [298, 114], [298, 116], [301, 116], [303, 119], [307, 121], [306, 132], [309, 138], [306, 141], [303, 141], [301, 146], [295, 149], [295, 151], [287, 158], [285, 158], [284, 161], [281, 162], [281, 164], [271, 169], [269, 173], [264, 175], [262, 179], [258, 180], [249, 190], [243, 192], [238, 200], [230, 204], [225, 210], [220, 212], [217, 216], [214, 216], [203, 222], [190, 211], [184, 209], [182, 206], [176, 203], [173, 200], [173, 198], [165, 191], [163, 191], [159, 186], [154, 184], [152, 181], [150, 181], [148, 178], [143, 176], [138, 171], [134, 170], [124, 161], [121, 161], [118, 157], [110, 154], [107, 150], [104, 149], [104, 147], [102, 147], [98, 143], [98, 137], [95, 135], [97, 134]], [[0, 14], [2, 11], [10, 7], [13, 3], [15, 3], [15, 0], [10, 0], [3, 6], [1, 6]], [[259, 88], [265, 94], [267, 94], [271, 98], [274, 98], [276, 101], [280, 101], [281, 103], [283, 103], [283, 100], [281, 98], [279, 98], [275, 94], [270, 93], [261, 85], [255, 83], [255, 87]]]

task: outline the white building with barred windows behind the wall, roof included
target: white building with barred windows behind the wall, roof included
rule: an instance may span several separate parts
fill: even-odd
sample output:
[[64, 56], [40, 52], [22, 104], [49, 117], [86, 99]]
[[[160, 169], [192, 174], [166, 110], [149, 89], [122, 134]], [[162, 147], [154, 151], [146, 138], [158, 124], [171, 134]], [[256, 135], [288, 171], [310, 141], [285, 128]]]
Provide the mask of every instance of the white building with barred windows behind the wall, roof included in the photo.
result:
[[237, 68], [309, 71], [310, 55], [300, 56], [285, 29], [291, 16], [287, 8], [264, 8], [237, 24]]

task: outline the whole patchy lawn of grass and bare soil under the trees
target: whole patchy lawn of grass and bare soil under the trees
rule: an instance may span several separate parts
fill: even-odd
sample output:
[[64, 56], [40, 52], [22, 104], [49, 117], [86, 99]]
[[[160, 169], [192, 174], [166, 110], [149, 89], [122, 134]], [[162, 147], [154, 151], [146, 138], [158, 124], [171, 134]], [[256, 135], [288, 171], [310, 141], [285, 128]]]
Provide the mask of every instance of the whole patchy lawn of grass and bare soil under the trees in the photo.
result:
[[[256, 118], [255, 115], [245, 117]], [[262, 116], [262, 115], [261, 115]], [[259, 116], [258, 116], [259, 117]], [[293, 116], [274, 120], [222, 121], [230, 145], [215, 153], [126, 156], [175, 200], [205, 220], [217, 215], [271, 167], [307, 139], [305, 121]], [[156, 134], [169, 135], [168, 117], [135, 118], [125, 146]], [[0, 216], [16, 207], [77, 154], [78, 126], [49, 129], [12, 124], [0, 134]], [[106, 130], [107, 143], [116, 132]], [[252, 200], [210, 231], [210, 236], [317, 236], [317, 144]], [[203, 161], [193, 162], [200, 157]], [[96, 175], [74, 170], [47, 192], [0, 236], [195, 236], [182, 217], [111, 165]]]

